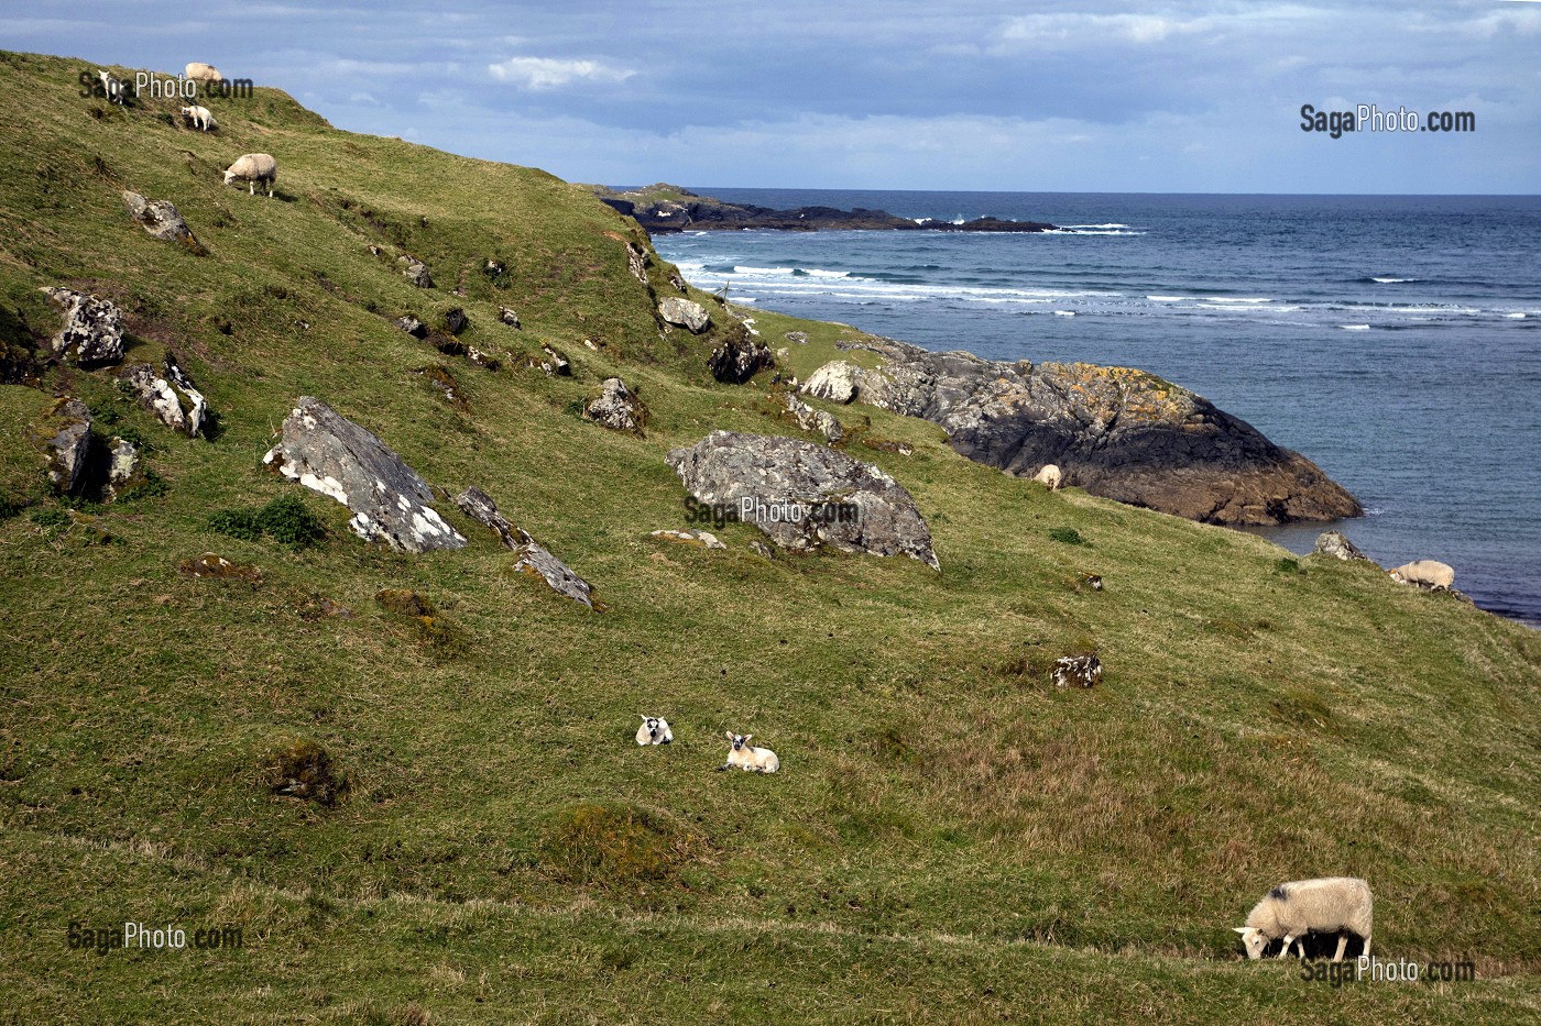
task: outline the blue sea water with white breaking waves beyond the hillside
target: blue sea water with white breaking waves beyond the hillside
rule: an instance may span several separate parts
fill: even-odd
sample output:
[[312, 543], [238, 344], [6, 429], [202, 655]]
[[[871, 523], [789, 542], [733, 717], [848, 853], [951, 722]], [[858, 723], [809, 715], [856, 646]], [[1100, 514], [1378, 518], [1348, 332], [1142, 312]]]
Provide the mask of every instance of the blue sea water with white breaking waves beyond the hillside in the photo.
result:
[[[1353, 491], [1368, 515], [1336, 527], [1382, 565], [1449, 562], [1479, 605], [1541, 624], [1541, 197], [697, 191], [1073, 228], [653, 242], [738, 302], [1160, 374]], [[1262, 533], [1304, 553], [1321, 530]]]

